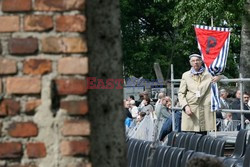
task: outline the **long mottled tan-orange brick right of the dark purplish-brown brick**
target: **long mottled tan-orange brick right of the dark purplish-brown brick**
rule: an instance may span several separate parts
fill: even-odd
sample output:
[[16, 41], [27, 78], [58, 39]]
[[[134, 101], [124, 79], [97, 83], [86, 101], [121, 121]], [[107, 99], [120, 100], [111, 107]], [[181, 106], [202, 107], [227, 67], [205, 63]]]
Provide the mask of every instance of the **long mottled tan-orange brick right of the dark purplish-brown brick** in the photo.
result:
[[81, 37], [47, 37], [42, 39], [44, 53], [84, 53], [87, 43]]

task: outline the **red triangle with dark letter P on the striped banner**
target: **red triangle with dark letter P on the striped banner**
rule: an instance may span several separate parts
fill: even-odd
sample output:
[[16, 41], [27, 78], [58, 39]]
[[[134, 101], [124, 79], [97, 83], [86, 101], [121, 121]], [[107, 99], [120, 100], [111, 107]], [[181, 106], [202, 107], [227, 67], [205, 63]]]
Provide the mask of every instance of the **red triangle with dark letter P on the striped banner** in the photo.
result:
[[204, 63], [209, 67], [219, 55], [228, 38], [229, 32], [195, 27], [195, 33], [203, 54]]

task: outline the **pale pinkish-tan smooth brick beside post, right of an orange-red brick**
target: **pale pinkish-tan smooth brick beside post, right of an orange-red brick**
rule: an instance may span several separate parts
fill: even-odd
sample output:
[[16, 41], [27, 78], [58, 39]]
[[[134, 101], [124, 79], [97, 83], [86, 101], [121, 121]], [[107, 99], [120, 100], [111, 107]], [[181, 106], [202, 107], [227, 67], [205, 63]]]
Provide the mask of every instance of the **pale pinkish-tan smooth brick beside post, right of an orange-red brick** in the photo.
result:
[[64, 57], [58, 60], [58, 72], [61, 74], [87, 74], [87, 57]]

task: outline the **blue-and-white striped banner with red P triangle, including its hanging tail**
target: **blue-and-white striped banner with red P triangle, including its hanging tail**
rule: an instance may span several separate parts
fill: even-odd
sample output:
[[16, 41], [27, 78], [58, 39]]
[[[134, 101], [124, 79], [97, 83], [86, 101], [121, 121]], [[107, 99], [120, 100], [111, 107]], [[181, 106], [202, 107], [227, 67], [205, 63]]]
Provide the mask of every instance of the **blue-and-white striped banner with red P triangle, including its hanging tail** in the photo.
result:
[[[212, 76], [220, 75], [226, 67], [230, 42], [230, 28], [195, 25], [198, 48], [203, 62]], [[220, 109], [217, 83], [211, 85], [211, 111]]]

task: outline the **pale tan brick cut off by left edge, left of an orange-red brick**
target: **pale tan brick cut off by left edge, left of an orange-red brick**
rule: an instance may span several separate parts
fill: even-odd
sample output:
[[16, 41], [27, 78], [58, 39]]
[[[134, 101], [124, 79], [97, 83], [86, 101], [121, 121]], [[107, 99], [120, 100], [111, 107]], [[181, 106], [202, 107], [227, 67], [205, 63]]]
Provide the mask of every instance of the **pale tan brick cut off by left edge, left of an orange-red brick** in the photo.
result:
[[15, 74], [16, 72], [15, 60], [0, 58], [0, 74]]

